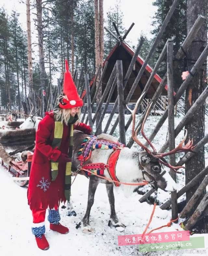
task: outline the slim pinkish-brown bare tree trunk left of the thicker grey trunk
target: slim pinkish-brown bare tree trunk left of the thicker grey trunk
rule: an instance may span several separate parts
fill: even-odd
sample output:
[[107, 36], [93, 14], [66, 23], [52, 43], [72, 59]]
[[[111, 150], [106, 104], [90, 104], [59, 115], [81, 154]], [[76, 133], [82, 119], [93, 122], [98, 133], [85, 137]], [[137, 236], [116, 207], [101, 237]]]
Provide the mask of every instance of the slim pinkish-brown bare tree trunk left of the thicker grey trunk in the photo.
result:
[[[32, 42], [31, 42], [31, 22], [30, 22], [30, 0], [26, 0], [27, 14], [27, 49], [28, 49], [28, 82], [29, 92], [32, 92]], [[25, 88], [26, 97], [26, 88]]]

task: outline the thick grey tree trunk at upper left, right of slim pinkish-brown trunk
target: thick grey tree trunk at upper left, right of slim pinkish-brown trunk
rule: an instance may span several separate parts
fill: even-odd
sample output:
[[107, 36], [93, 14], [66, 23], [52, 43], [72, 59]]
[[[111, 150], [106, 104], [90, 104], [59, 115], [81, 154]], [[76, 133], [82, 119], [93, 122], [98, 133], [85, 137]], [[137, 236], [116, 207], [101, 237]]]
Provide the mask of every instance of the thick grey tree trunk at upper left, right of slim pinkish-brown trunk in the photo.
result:
[[42, 0], [36, 0], [37, 9], [37, 30], [38, 30], [38, 47], [39, 47], [39, 66], [40, 66], [40, 84], [45, 87], [45, 62], [43, 49], [43, 21], [42, 21]]

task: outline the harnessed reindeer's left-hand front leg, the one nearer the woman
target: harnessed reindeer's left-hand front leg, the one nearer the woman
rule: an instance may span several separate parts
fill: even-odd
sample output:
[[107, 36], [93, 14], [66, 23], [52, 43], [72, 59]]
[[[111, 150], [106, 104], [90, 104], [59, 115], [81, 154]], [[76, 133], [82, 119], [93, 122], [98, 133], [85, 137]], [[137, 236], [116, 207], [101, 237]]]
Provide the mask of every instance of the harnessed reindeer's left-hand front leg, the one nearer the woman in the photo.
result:
[[95, 191], [98, 187], [99, 179], [97, 177], [90, 177], [89, 188], [88, 188], [88, 201], [87, 201], [87, 210], [83, 218], [83, 232], [93, 232], [94, 230], [90, 227], [90, 210], [94, 203]]

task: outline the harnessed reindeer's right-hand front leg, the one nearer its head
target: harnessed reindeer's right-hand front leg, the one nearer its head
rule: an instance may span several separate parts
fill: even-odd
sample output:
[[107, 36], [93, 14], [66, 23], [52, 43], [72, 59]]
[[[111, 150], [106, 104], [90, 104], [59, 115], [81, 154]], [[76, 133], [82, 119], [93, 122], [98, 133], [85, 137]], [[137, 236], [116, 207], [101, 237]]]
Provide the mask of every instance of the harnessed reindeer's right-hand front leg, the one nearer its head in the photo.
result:
[[108, 223], [108, 226], [115, 227], [118, 231], [124, 231], [124, 228], [126, 227], [123, 223], [121, 223], [116, 215], [115, 211], [115, 198], [113, 194], [113, 184], [106, 184], [106, 190], [108, 193], [108, 199], [110, 203], [110, 220]]

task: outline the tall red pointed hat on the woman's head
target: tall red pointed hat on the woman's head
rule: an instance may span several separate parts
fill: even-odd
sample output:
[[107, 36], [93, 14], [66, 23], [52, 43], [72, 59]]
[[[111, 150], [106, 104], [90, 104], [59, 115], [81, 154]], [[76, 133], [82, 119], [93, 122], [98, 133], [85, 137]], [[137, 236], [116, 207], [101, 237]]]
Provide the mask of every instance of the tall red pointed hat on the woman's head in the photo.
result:
[[59, 103], [60, 108], [73, 108], [83, 106], [83, 100], [80, 99], [75, 87], [72, 75], [69, 72], [68, 61], [65, 59], [66, 72], [64, 73], [63, 99]]

